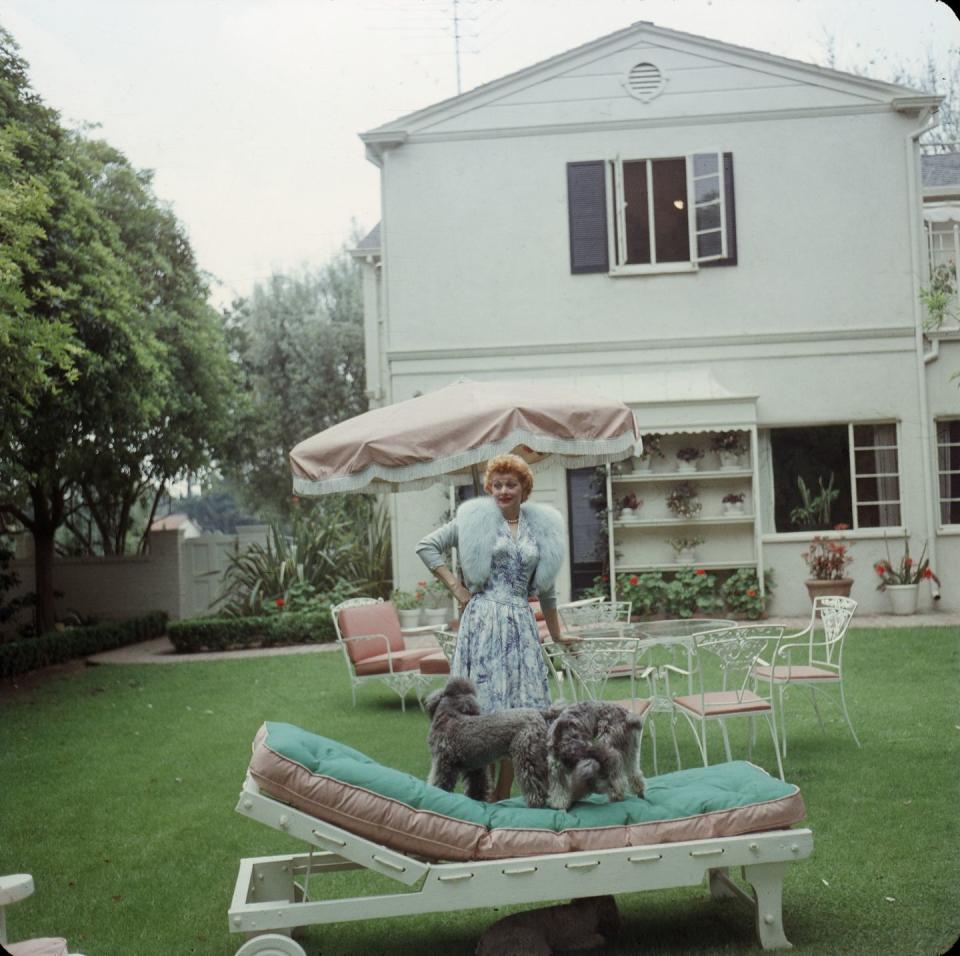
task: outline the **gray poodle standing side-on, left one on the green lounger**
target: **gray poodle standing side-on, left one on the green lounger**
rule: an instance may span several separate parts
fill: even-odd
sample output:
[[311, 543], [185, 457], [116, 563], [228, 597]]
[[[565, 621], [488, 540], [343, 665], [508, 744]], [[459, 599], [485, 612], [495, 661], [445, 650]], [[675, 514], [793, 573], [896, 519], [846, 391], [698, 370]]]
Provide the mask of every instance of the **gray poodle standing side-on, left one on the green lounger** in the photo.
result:
[[559, 710], [516, 708], [481, 714], [476, 690], [465, 677], [454, 677], [426, 700], [430, 716], [427, 743], [433, 760], [427, 783], [453, 790], [464, 778], [464, 792], [489, 800], [490, 768], [509, 757], [527, 806], [547, 799], [547, 722]]

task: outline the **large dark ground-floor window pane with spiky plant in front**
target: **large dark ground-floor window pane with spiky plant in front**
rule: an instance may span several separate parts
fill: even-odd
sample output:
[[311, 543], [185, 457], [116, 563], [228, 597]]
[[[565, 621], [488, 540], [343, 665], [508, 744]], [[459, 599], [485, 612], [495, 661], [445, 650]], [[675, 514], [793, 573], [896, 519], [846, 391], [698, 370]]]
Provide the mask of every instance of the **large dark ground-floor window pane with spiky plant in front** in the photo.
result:
[[845, 425], [772, 428], [770, 450], [777, 531], [826, 531], [853, 524]]

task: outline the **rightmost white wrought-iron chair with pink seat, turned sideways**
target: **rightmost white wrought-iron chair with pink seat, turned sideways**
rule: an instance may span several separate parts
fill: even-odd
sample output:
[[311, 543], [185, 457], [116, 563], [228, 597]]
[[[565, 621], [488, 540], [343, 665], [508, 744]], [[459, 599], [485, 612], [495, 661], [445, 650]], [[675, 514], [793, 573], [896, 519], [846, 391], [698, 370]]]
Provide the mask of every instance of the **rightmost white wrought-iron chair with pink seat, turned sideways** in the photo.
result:
[[[810, 623], [802, 631], [784, 635], [776, 659], [763, 661], [754, 668], [756, 680], [771, 683], [777, 689], [781, 750], [784, 757], [787, 755], [784, 697], [792, 685], [805, 685], [810, 688], [813, 710], [824, 732], [826, 727], [817, 706], [817, 692], [836, 688], [840, 712], [847, 722], [854, 743], [860, 746], [857, 732], [853, 729], [847, 713], [847, 701], [843, 692], [843, 645], [856, 609], [857, 602], [853, 598], [814, 598]], [[818, 621], [820, 627], [817, 626]]]

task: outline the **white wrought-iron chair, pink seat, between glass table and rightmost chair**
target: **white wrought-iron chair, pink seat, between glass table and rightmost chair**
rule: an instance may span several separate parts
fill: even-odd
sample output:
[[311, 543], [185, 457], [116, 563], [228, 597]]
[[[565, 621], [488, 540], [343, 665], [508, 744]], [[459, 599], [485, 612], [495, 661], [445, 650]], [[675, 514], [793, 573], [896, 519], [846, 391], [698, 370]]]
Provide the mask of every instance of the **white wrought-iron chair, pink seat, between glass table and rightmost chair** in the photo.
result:
[[[783, 780], [773, 689], [768, 684], [769, 693], [763, 695], [753, 680], [758, 661], [776, 659], [782, 637], [782, 627], [755, 624], [706, 631], [693, 638], [693, 653], [689, 658], [692, 670], [685, 676], [693, 679], [695, 689], [687, 694], [673, 695], [671, 700], [674, 711], [682, 714], [690, 724], [705, 767], [708, 765], [708, 724], [719, 723], [724, 753], [727, 760], [732, 760], [727, 721], [748, 717], [752, 722], [753, 718], [763, 717], [770, 729], [777, 770]], [[669, 687], [669, 672], [680, 669], [668, 665], [662, 670], [667, 672]], [[748, 742], [752, 753], [753, 728], [750, 730]]]

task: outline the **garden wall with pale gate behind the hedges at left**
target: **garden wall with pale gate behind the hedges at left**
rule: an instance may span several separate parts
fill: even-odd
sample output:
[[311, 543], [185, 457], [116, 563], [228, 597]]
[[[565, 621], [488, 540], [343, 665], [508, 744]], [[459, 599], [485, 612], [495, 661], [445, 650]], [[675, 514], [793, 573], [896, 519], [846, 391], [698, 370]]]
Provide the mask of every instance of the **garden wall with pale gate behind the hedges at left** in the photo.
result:
[[[229, 556], [251, 544], [266, 544], [265, 525], [247, 525], [236, 535], [188, 537], [182, 528], [154, 531], [148, 555], [57, 558], [53, 586], [63, 592], [57, 614], [70, 611], [99, 618], [126, 618], [166, 611], [171, 620], [216, 613]], [[10, 596], [34, 588], [33, 541], [23, 536], [11, 562], [20, 579]], [[18, 624], [23, 623], [22, 615]]]

